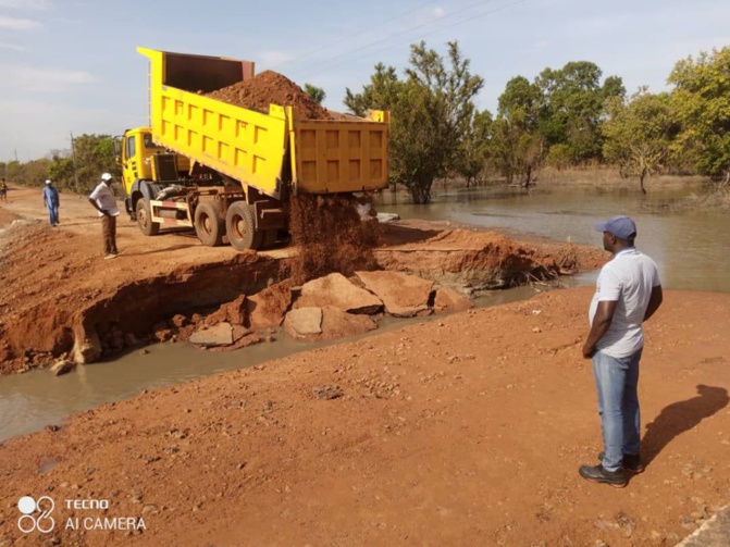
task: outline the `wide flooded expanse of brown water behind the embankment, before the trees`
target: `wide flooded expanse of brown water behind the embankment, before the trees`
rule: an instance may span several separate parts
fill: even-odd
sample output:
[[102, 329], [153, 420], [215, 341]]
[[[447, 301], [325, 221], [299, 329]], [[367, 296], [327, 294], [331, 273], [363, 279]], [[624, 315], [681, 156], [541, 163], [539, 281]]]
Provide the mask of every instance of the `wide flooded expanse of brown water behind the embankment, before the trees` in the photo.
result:
[[[665, 287], [730, 293], [730, 215], [712, 212], [656, 214], [651, 211], [681, 199], [700, 187], [657, 191], [598, 192], [573, 190], [545, 194], [535, 190], [441, 191], [428, 207], [380, 204], [380, 212], [403, 219], [449, 220], [490, 226], [507, 234], [528, 234], [576, 244], [602, 245], [593, 226], [599, 220], [627, 214], [636, 221], [636, 246], [653, 257]], [[393, 203], [387, 192], [384, 203]]]

